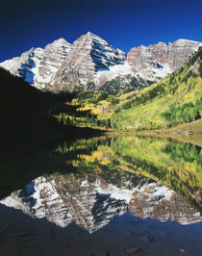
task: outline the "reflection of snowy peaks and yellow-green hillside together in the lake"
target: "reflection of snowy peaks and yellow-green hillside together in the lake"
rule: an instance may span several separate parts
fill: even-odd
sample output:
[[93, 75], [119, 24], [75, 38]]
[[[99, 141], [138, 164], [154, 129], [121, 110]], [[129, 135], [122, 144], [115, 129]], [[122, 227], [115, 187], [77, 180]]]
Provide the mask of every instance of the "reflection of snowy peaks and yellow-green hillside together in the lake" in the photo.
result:
[[[201, 147], [165, 139], [113, 137], [63, 142], [44, 173], [1, 203], [60, 227], [89, 233], [129, 211], [181, 224], [201, 221]], [[50, 165], [50, 163], [49, 163]], [[41, 170], [42, 171], [42, 170]]]

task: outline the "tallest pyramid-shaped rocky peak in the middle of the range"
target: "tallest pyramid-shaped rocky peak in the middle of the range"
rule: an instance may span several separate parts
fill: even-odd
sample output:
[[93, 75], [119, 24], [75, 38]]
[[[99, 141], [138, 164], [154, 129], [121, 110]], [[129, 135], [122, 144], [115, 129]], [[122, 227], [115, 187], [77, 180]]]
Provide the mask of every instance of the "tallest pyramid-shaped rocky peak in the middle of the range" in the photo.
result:
[[[87, 90], [96, 73], [109, 70], [115, 64], [124, 64], [125, 54], [107, 41], [91, 33], [78, 38], [56, 73], [55, 90]], [[95, 88], [94, 88], [95, 89]]]

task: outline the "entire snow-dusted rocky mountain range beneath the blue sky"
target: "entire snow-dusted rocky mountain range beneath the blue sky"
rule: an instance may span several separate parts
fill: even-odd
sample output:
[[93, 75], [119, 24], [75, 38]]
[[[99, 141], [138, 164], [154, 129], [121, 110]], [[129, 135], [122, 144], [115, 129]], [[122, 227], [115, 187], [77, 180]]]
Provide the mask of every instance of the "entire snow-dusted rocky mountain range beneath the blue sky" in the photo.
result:
[[137, 90], [181, 67], [199, 46], [201, 42], [188, 39], [158, 42], [134, 47], [126, 57], [88, 32], [72, 45], [60, 38], [0, 65], [40, 90]]

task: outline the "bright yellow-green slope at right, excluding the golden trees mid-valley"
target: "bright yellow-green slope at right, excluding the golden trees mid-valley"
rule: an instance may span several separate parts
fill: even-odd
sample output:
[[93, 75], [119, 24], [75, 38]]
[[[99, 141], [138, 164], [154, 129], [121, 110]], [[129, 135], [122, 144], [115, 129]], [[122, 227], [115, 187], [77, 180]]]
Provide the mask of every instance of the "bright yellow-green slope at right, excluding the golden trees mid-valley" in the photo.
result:
[[189, 63], [158, 84], [134, 92], [116, 108], [112, 117], [120, 129], [156, 129], [190, 122], [202, 113], [202, 48]]

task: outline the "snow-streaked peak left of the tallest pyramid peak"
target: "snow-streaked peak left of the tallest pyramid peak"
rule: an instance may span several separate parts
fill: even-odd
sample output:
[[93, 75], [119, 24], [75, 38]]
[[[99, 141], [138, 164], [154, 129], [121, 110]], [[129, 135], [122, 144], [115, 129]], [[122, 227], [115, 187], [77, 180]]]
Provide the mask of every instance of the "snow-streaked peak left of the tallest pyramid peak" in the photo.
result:
[[38, 89], [47, 89], [51, 84], [53, 76], [63, 64], [70, 43], [63, 38], [57, 39], [42, 48], [32, 48], [20, 57], [5, 61], [0, 65], [13, 75], [23, 77], [29, 84]]

